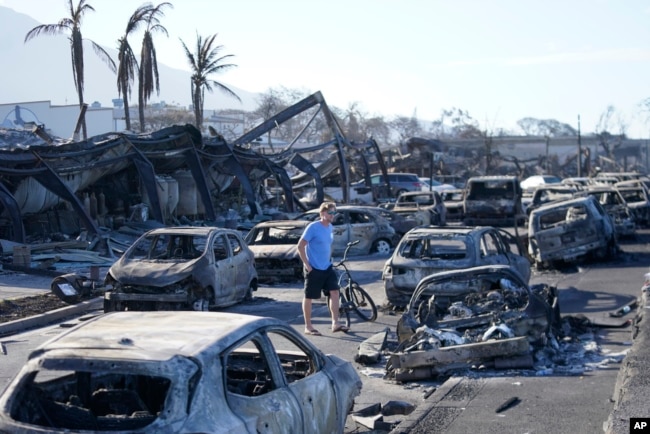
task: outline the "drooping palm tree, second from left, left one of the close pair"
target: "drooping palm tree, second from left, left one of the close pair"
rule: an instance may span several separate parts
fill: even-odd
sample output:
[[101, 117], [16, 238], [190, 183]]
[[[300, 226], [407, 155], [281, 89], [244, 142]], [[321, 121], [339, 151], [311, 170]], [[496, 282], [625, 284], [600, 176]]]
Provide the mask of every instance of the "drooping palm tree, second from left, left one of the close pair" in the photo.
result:
[[147, 15], [151, 12], [151, 9], [150, 4], [142, 5], [136, 9], [129, 18], [124, 35], [117, 40], [117, 93], [122, 95], [122, 101], [124, 102], [124, 121], [127, 130], [131, 129], [131, 114], [129, 113], [131, 84], [135, 80], [138, 70], [138, 60], [129, 44], [128, 37], [137, 30], [140, 24], [147, 20]]

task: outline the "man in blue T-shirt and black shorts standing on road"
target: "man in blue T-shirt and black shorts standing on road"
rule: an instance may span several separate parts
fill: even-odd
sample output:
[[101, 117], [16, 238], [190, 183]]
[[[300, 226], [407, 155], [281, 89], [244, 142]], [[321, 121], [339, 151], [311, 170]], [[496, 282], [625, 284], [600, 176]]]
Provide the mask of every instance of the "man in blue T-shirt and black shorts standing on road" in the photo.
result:
[[305, 295], [302, 299], [302, 313], [305, 316], [305, 333], [320, 336], [311, 324], [312, 300], [321, 297], [321, 291], [329, 297], [332, 315], [332, 331], [347, 332], [339, 324], [339, 284], [332, 266], [332, 222], [336, 215], [336, 204], [324, 202], [319, 208], [320, 219], [307, 225], [298, 241], [298, 254], [305, 264]]

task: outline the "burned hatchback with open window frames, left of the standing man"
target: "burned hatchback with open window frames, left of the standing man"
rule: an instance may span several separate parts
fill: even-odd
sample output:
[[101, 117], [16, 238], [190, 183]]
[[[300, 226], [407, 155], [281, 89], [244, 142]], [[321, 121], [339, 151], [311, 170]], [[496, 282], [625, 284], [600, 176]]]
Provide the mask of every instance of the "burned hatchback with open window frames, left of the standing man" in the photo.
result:
[[241, 233], [220, 227], [146, 232], [108, 270], [104, 311], [208, 310], [252, 297], [255, 258]]

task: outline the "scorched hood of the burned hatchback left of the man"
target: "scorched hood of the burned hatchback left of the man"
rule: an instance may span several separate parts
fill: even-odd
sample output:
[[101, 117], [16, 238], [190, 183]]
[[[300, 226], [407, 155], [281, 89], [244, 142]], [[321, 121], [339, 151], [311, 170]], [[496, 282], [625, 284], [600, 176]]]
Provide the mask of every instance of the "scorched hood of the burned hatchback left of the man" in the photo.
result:
[[118, 261], [109, 269], [111, 276], [122, 285], [146, 285], [165, 287], [184, 280], [192, 274], [196, 263], [161, 261]]

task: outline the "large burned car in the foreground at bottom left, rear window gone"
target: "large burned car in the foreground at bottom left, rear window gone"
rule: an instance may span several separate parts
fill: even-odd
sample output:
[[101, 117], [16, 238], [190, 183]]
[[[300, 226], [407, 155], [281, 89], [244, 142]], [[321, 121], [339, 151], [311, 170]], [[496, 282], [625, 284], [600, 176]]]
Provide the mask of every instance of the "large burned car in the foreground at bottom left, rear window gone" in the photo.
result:
[[31, 352], [0, 432], [343, 432], [361, 386], [274, 318], [112, 312]]

